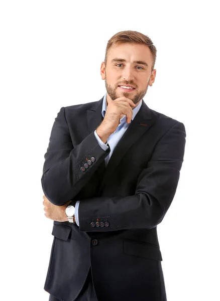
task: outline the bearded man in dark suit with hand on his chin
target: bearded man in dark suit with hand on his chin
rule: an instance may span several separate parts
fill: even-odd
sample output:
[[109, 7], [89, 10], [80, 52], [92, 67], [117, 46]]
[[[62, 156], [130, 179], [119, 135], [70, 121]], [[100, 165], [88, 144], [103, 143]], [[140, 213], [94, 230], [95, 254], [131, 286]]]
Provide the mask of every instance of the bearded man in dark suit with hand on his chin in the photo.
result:
[[143, 100], [156, 48], [139, 32], [107, 43], [97, 102], [62, 107], [45, 154], [45, 216], [54, 220], [50, 300], [164, 301], [157, 225], [176, 192], [185, 128]]

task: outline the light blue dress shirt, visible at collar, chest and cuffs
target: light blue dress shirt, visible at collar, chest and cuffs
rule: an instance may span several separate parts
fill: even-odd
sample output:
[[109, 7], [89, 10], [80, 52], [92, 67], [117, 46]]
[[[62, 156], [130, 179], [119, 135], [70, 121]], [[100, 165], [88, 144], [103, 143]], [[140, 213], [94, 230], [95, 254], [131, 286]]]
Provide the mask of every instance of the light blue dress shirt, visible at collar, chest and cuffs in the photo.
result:
[[[107, 93], [105, 93], [104, 98], [103, 98], [103, 102], [102, 102], [102, 110], [101, 110], [101, 114], [104, 118], [105, 112], [106, 112], [106, 108], [107, 108]], [[137, 115], [138, 111], [140, 110], [142, 105], [142, 100], [139, 102], [139, 104], [133, 109], [133, 115], [132, 115], [132, 121], [134, 120], [135, 116]], [[132, 122], [131, 121], [131, 122]], [[116, 147], [116, 145], [118, 144], [119, 140], [121, 139], [121, 137], [124, 135], [125, 131], [127, 130], [127, 128], [129, 127], [130, 123], [126, 122], [126, 115], [120, 119], [120, 124], [118, 125], [116, 131], [114, 133], [112, 133], [108, 139], [106, 144], [104, 142], [101, 141], [101, 139], [99, 138], [99, 136], [96, 133], [96, 130], [94, 131], [94, 135], [98, 141], [98, 144], [100, 145], [100, 147], [106, 151], [108, 149], [107, 143], [110, 146], [110, 153], [108, 154], [108, 156], [104, 159], [105, 161], [105, 166], [107, 166], [109, 159], [111, 158], [113, 151]], [[79, 226], [79, 216], [78, 216], [78, 210], [79, 210], [79, 203], [80, 201], [77, 201], [75, 204], [75, 219], [76, 219], [76, 224]]]

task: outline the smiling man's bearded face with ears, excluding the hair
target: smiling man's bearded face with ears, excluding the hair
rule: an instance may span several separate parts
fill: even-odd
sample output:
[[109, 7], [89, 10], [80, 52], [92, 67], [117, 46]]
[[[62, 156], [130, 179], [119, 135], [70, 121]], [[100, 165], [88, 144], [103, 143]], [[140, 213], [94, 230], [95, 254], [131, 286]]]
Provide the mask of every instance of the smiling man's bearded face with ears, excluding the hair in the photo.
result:
[[112, 46], [106, 66], [101, 63], [101, 78], [105, 79], [109, 97], [115, 100], [125, 96], [137, 104], [154, 82], [156, 70], [151, 71], [152, 63], [152, 54], [146, 45], [120, 43]]

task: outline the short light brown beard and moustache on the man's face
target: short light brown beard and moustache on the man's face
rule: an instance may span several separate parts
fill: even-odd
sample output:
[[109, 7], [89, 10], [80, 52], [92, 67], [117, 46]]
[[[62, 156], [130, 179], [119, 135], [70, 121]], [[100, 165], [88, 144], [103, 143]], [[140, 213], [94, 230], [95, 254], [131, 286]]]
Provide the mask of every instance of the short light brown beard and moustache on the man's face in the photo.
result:
[[[150, 80], [149, 80], [150, 82]], [[122, 92], [122, 93], [117, 93], [116, 90], [118, 88], [118, 85], [116, 85], [115, 87], [114, 86], [111, 86], [110, 84], [108, 84], [107, 82], [107, 78], [106, 78], [106, 75], [105, 75], [105, 88], [106, 88], [106, 91], [107, 91], [107, 94], [111, 97], [112, 100], [115, 100], [119, 97], [127, 97], [129, 99], [131, 99], [134, 104], [138, 103], [147, 93], [147, 89], [148, 89], [148, 86], [149, 86], [149, 82], [147, 84], [147, 87], [145, 90], [141, 90], [139, 92], [137, 92], [135, 95], [131, 96], [131, 93], [130, 92]], [[125, 85], [131, 85], [131, 86], [134, 86], [131, 82], [127, 82], [125, 83]], [[119, 95], [119, 94], [122, 94], [122, 95]]]

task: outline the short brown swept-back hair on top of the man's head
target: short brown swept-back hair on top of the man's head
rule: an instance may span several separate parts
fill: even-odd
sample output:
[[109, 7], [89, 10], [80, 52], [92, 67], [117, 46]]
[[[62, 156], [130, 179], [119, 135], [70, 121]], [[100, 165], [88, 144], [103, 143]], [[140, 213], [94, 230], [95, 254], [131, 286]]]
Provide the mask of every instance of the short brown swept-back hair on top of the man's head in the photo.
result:
[[136, 31], [122, 31], [117, 34], [115, 34], [110, 40], [107, 42], [107, 46], [105, 49], [105, 57], [104, 57], [104, 64], [106, 65], [107, 62], [107, 52], [109, 48], [111, 48], [113, 45], [117, 43], [138, 43], [138, 44], [144, 44], [150, 48], [152, 57], [153, 57], [153, 63], [152, 63], [152, 70], [154, 69], [156, 56], [157, 56], [157, 49], [153, 45], [153, 42], [148, 36], [145, 36], [139, 32]]

